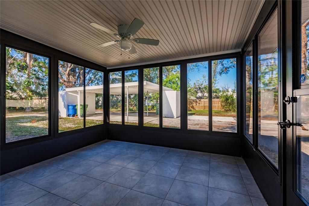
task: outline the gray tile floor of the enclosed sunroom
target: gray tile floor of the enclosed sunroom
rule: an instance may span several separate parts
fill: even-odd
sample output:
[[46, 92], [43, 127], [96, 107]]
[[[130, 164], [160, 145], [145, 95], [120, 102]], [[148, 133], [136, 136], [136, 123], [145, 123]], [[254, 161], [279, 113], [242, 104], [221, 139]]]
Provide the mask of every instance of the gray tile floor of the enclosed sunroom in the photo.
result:
[[240, 157], [104, 140], [1, 176], [1, 205], [267, 205]]

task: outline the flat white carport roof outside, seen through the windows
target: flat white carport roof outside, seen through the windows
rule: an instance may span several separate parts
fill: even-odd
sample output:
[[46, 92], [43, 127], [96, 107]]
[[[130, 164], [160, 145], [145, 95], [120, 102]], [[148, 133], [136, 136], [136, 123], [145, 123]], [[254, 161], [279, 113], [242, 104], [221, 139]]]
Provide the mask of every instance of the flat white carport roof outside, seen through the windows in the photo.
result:
[[[137, 94], [138, 93], [138, 82], [127, 82], [125, 83], [125, 90], [128, 87], [129, 94]], [[159, 92], [159, 84], [155, 84], [152, 82], [144, 81], [144, 92], [154, 93]], [[87, 86], [86, 92], [92, 93], [103, 93], [103, 85], [96, 85], [96, 86]], [[165, 91], [174, 91], [171, 88], [162, 87]], [[66, 88], [67, 92], [83, 92], [83, 87], [73, 87], [73, 88]], [[109, 85], [109, 92], [110, 94], [121, 94], [121, 83], [118, 84], [110, 84]]]

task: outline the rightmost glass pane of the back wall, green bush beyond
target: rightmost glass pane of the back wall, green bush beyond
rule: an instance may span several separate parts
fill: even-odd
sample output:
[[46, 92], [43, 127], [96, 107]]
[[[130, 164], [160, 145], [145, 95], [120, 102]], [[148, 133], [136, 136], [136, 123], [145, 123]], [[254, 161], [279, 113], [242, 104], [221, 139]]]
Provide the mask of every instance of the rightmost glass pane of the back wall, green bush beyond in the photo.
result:
[[213, 131], [237, 132], [236, 59], [212, 61]]

